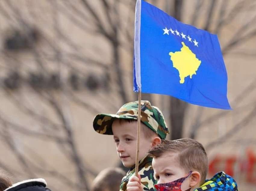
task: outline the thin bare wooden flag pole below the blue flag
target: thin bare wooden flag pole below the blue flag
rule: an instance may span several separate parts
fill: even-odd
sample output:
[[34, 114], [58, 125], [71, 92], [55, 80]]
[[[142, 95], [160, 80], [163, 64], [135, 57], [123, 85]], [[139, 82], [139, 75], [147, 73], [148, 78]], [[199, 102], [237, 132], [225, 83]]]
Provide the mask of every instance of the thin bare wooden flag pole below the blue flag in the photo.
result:
[[137, 147], [136, 147], [136, 162], [135, 162], [135, 176], [138, 177], [139, 172], [139, 138], [140, 138], [140, 113], [141, 113], [141, 89], [138, 91], [139, 108], [138, 108], [138, 125], [137, 125]]

